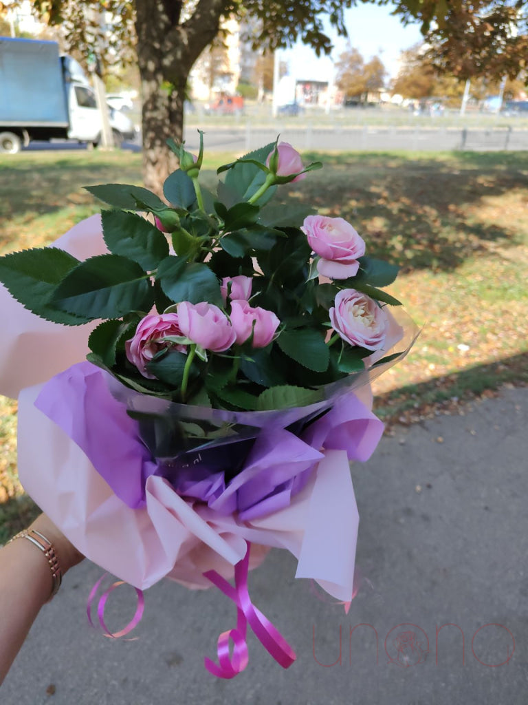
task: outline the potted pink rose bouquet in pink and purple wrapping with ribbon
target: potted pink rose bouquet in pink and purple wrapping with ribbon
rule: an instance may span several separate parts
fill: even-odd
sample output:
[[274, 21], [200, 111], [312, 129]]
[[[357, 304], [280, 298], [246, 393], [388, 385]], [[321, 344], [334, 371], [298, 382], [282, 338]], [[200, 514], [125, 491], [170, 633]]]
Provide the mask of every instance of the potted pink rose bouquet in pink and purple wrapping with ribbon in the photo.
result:
[[221, 166], [213, 193], [203, 134], [197, 157], [169, 146], [180, 168], [166, 202], [88, 187], [109, 206], [101, 219], [0, 258], [0, 372], [4, 393], [20, 393], [29, 494], [137, 589], [162, 577], [222, 589], [237, 627], [206, 666], [232, 678], [247, 623], [282, 666], [295, 658], [249, 599], [247, 571], [271, 547], [351, 599], [349, 462], [382, 435], [369, 382], [415, 329], [383, 288], [397, 267], [367, 255], [350, 223], [274, 201], [320, 163], [277, 138]]

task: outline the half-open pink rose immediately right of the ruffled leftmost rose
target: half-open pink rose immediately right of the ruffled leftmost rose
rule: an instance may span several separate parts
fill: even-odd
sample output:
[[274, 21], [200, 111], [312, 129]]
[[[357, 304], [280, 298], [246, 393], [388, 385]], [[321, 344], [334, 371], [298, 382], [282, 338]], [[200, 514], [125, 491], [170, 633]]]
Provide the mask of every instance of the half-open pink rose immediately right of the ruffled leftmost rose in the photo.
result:
[[232, 346], [237, 337], [230, 319], [218, 306], [182, 301], [177, 306], [177, 312], [183, 335], [204, 350], [222, 353]]

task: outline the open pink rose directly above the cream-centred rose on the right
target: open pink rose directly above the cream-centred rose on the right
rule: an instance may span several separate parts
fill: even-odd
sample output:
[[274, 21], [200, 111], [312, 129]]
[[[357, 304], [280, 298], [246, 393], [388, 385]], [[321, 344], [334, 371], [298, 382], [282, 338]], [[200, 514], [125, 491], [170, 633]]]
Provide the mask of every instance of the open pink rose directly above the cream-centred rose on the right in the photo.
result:
[[318, 272], [332, 279], [358, 274], [358, 258], [365, 255], [365, 240], [342, 218], [307, 216], [301, 227], [312, 250], [320, 255]]

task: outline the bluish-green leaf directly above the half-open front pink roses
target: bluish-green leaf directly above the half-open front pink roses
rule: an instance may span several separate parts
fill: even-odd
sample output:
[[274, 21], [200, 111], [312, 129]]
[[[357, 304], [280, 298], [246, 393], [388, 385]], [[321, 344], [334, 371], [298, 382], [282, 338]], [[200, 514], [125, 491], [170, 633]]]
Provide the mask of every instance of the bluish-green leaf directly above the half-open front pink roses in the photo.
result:
[[220, 283], [207, 264], [188, 263], [183, 257], [167, 257], [158, 266], [157, 280], [175, 303], [207, 301], [222, 305]]

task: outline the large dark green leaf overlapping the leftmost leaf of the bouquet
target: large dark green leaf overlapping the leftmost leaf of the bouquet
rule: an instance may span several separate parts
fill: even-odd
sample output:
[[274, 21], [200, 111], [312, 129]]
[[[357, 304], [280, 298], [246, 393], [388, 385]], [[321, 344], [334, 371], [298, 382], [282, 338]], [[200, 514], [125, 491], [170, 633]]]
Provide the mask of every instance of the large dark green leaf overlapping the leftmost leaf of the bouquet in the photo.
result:
[[153, 288], [143, 269], [120, 255], [98, 255], [77, 264], [56, 288], [51, 304], [85, 321], [149, 311]]

